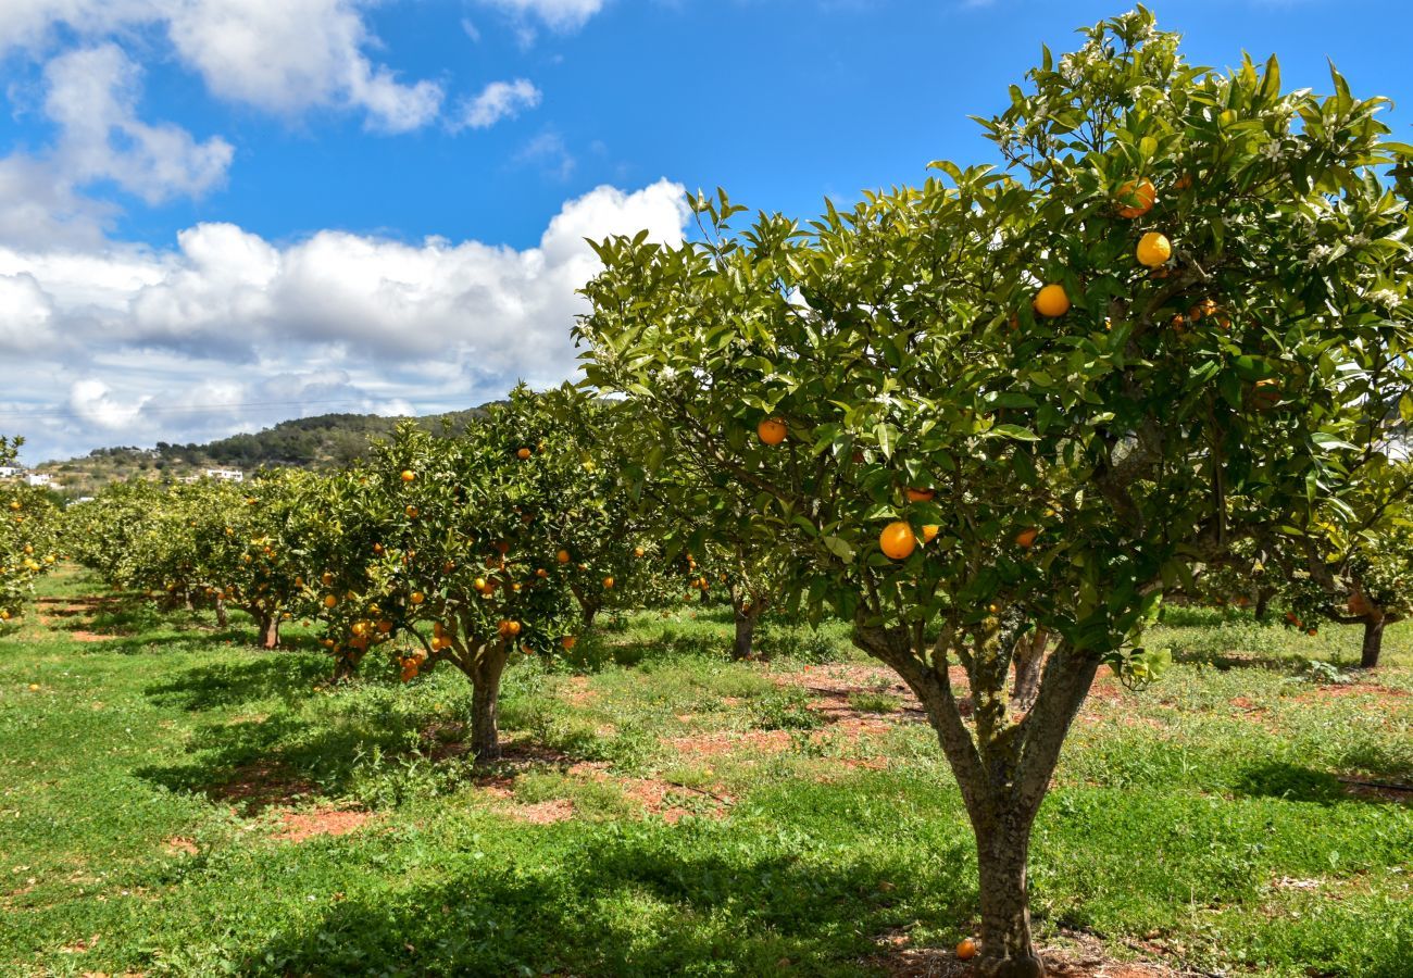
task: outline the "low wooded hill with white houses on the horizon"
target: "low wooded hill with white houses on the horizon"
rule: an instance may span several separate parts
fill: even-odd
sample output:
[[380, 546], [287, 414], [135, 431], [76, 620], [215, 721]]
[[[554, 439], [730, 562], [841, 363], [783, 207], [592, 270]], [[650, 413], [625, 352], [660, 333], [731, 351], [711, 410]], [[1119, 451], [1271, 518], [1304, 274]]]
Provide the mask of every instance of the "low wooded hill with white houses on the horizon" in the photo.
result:
[[[483, 407], [473, 407], [411, 420], [432, 432], [442, 431], [444, 425], [455, 431], [482, 413]], [[182, 478], [212, 468], [243, 472], [263, 468], [331, 469], [362, 458], [373, 441], [390, 435], [398, 423], [407, 420], [379, 414], [318, 414], [203, 445], [160, 441], [153, 448], [96, 448], [81, 458], [47, 462], [37, 471], [51, 473], [64, 486], [64, 495], [75, 497], [131, 476]]]

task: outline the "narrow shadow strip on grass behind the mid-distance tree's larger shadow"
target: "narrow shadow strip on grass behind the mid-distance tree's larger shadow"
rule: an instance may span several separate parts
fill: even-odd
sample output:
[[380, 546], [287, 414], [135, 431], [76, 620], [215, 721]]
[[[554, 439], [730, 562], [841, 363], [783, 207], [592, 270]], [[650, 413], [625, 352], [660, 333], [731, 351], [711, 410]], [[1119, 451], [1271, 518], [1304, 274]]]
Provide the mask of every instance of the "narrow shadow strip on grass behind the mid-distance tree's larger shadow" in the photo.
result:
[[[185, 639], [160, 639], [184, 642]], [[151, 643], [151, 644], [157, 644]], [[240, 707], [259, 700], [297, 702], [315, 694], [328, 678], [329, 663], [309, 654], [263, 654], [240, 663], [212, 663], [188, 668], [143, 693], [160, 707], [188, 711]]]

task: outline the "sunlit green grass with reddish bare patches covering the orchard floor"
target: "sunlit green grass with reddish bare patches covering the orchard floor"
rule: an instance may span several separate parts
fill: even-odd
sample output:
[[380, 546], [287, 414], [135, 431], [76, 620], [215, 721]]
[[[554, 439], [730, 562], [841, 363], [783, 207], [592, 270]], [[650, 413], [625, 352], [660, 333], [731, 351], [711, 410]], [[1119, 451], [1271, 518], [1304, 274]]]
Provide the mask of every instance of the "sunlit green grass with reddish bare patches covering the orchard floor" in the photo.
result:
[[[728, 616], [644, 613], [578, 670], [517, 661], [485, 772], [451, 673], [332, 687], [298, 626], [261, 653], [243, 620], [71, 609], [99, 592], [72, 570], [45, 588], [48, 620], [0, 635], [0, 974], [861, 975], [885, 938], [975, 929], [935, 736], [842, 628], [729, 663]], [[1413, 806], [1368, 783], [1413, 783], [1413, 629], [1376, 678], [1311, 680], [1358, 640], [1156, 629], [1176, 664], [1101, 681], [1037, 823], [1041, 938], [1409, 974]], [[333, 810], [367, 820], [283, 831]]]

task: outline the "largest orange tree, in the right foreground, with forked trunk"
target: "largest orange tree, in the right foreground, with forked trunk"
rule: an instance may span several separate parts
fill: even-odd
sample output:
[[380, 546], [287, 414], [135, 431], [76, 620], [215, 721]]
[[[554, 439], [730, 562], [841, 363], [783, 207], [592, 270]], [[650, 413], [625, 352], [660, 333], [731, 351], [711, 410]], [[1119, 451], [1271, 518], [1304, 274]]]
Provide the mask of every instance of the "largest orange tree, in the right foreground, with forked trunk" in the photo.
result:
[[[1286, 93], [1275, 59], [1191, 66], [1142, 8], [1084, 37], [983, 123], [1006, 171], [937, 163], [807, 228], [738, 233], [725, 194], [694, 199], [702, 243], [598, 246], [578, 328], [642, 442], [755, 490], [762, 537], [810, 554], [790, 601], [849, 618], [920, 698], [992, 975], [1044, 972], [1030, 831], [1096, 670], [1142, 680], [1164, 589], [1356, 490], [1372, 359], [1413, 310], [1383, 100], [1338, 75]], [[1022, 712], [1034, 629], [1053, 652]]]

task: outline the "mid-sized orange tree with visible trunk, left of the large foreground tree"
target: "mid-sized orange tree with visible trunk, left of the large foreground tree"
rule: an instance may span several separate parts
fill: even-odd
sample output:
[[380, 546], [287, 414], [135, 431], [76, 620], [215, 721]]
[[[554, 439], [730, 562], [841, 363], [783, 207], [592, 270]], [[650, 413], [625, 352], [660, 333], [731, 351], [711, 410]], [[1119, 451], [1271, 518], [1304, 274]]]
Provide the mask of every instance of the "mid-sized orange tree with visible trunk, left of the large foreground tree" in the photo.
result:
[[[472, 684], [472, 750], [500, 756], [497, 698], [510, 656], [574, 646], [575, 567], [551, 514], [574, 445], [531, 421], [517, 390], [456, 437], [403, 425], [338, 492], [338, 544], [311, 581], [324, 642], [346, 674], [369, 649], [397, 650], [403, 678], [441, 663]], [[572, 568], [572, 570], [571, 570]], [[413, 643], [408, 652], [408, 643]]]

